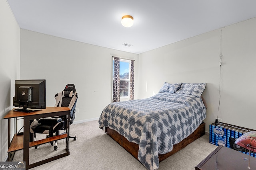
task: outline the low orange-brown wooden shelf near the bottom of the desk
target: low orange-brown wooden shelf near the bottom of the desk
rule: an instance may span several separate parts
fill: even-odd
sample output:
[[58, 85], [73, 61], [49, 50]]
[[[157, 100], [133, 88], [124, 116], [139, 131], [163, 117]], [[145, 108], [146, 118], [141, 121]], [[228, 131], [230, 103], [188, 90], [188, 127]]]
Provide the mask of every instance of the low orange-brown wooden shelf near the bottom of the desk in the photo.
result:
[[[60, 139], [65, 139], [67, 137], [68, 137], [68, 134], [65, 133], [63, 135], [58, 135], [58, 136], [49, 137], [49, 138], [46, 138], [46, 139], [41, 139], [41, 140], [38, 140], [38, 141], [33, 141], [33, 142], [29, 143], [29, 147], [31, 148], [31, 147], [34, 147], [34, 146], [37, 146], [37, 145], [42, 145], [42, 144], [45, 144], [45, 143], [58, 141]], [[10, 144], [10, 147], [8, 149], [8, 153], [16, 151], [16, 150], [20, 150], [20, 149], [23, 149], [23, 135], [16, 135], [15, 134], [13, 139], [12, 139], [12, 142]]]

